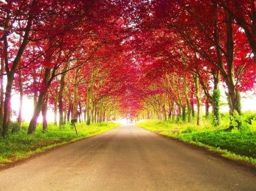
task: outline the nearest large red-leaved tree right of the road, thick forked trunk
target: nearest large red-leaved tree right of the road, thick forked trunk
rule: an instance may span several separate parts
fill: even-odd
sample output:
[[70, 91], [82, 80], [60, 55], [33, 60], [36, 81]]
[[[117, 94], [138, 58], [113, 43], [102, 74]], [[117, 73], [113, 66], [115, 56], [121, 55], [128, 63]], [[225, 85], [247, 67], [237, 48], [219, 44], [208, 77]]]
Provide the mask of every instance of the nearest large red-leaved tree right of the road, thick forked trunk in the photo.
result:
[[[176, 11], [167, 12], [175, 6], [178, 7]], [[160, 12], [163, 7], [164, 11]], [[193, 52], [208, 61], [208, 66], [220, 71], [228, 88], [230, 114], [233, 111], [241, 113], [238, 84], [243, 83], [242, 76], [247, 73], [251, 75], [251, 71], [255, 69], [250, 66], [251, 57], [246, 56], [250, 52], [245, 40], [241, 40], [243, 32], [233, 22], [230, 12], [211, 2], [192, 1], [188, 4], [185, 1], [162, 1], [155, 5], [155, 18], [162, 19], [159, 22], [162, 27], [176, 30]], [[167, 22], [163, 22], [164, 20]], [[243, 62], [234, 60], [236, 57]]]

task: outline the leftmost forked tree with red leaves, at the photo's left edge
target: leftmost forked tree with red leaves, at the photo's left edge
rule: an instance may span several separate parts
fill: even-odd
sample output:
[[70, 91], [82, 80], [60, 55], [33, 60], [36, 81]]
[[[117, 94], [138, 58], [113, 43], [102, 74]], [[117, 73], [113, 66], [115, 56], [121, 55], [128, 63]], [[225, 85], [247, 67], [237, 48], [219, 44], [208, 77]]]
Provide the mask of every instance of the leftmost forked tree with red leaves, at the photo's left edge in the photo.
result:
[[[35, 22], [36, 6], [35, 1], [28, 1], [26, 4], [24, 1], [17, 1], [16, 3], [3, 3], [1, 5], [1, 27], [3, 30], [0, 33], [0, 41], [3, 42], [3, 58], [5, 63], [5, 71], [7, 75], [5, 101], [4, 101], [4, 114], [2, 125], [2, 136], [6, 137], [9, 130], [10, 122], [10, 110], [11, 110], [11, 88], [14, 81], [14, 73], [18, 68], [20, 59], [27, 44], [30, 41], [30, 31], [32, 24]], [[20, 14], [22, 12], [22, 14]], [[17, 24], [18, 20], [21, 20], [22, 24]], [[12, 40], [15, 35], [22, 36], [20, 42]], [[15, 43], [15, 49], [10, 51], [9, 47], [12, 43]]]

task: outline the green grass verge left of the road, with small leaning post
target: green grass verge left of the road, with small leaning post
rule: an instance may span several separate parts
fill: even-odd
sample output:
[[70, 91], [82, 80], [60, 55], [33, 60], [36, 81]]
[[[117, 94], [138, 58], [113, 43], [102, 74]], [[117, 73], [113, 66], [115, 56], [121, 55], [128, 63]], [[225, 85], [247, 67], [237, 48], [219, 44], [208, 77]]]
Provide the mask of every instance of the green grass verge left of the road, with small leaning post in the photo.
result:
[[63, 128], [48, 124], [47, 131], [42, 131], [42, 124], [39, 124], [34, 133], [27, 134], [28, 124], [23, 123], [18, 132], [11, 133], [10, 131], [7, 138], [0, 138], [0, 167], [52, 147], [104, 133], [119, 125], [113, 122], [102, 122], [89, 126], [85, 122], [77, 123], [77, 136], [72, 124], [67, 124]]

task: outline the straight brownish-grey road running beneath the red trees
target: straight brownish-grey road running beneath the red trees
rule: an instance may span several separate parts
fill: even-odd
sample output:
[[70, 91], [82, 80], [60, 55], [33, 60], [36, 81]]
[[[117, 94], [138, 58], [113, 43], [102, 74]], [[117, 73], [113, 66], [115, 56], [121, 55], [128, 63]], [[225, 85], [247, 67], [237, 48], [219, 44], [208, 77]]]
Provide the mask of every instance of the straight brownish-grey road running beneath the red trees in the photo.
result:
[[0, 171], [3, 191], [255, 191], [256, 172], [134, 125]]

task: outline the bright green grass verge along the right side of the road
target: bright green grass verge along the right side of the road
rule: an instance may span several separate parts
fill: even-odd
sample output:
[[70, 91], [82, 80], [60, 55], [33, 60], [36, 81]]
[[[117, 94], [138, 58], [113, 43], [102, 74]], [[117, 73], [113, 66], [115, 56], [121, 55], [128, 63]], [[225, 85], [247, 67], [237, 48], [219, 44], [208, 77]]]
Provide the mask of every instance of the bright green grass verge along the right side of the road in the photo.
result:
[[249, 114], [243, 114], [243, 125], [240, 130], [235, 128], [231, 131], [228, 130], [229, 123], [226, 116], [222, 116], [221, 125], [218, 127], [214, 127], [207, 119], [201, 126], [172, 121], [141, 121], [137, 125], [167, 137], [208, 148], [225, 158], [241, 160], [256, 167], [256, 120], [255, 118], [248, 120], [247, 116]]

